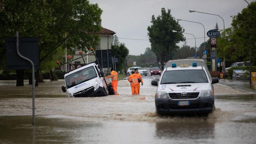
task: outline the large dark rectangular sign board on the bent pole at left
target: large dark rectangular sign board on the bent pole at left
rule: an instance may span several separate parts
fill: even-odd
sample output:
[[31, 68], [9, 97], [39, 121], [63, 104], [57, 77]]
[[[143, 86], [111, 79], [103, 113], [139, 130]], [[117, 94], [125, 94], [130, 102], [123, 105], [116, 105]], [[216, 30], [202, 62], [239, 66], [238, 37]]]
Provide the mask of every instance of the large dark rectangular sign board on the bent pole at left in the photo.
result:
[[[21, 58], [16, 51], [16, 38], [6, 38], [6, 69], [31, 69], [31, 63]], [[34, 63], [39, 69], [39, 42], [37, 37], [19, 37], [19, 53]]]

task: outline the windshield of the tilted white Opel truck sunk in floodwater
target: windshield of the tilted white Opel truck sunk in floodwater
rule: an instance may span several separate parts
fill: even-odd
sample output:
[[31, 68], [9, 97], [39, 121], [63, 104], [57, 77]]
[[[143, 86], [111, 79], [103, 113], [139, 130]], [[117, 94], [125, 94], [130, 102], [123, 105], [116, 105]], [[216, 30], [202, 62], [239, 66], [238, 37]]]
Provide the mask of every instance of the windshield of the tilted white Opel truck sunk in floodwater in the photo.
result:
[[83, 82], [89, 81], [97, 77], [97, 73], [93, 66], [77, 71], [65, 77], [67, 88], [71, 88]]

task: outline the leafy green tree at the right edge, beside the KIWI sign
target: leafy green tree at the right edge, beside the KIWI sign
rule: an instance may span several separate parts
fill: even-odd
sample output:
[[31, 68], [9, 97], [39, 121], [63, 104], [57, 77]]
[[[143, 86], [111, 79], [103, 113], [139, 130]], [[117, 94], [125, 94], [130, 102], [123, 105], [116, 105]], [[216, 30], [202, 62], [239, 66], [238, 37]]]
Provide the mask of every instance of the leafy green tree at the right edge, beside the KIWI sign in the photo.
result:
[[225, 29], [225, 33], [217, 39], [217, 54], [226, 59], [250, 60], [256, 65], [256, 2], [251, 2], [241, 13], [232, 16], [231, 28]]

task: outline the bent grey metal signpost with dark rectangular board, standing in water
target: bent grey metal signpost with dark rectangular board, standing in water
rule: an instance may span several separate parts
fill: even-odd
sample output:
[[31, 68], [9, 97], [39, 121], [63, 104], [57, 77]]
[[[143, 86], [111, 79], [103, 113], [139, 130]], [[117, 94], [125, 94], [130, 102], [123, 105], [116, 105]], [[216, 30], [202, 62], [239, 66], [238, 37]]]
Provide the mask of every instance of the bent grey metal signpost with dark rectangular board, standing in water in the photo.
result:
[[35, 125], [35, 69], [39, 69], [39, 41], [38, 38], [20, 38], [16, 31], [16, 38], [6, 41], [7, 69], [26, 70], [32, 68], [32, 125]]

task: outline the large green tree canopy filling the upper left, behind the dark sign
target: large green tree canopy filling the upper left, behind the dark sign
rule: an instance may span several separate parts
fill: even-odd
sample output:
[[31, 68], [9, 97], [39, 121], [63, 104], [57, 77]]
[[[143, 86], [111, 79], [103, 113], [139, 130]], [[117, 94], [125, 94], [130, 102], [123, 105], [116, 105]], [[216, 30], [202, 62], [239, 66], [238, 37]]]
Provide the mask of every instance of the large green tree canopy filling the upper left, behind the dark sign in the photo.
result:
[[[99, 35], [93, 33], [101, 30], [101, 13], [98, 4], [87, 0], [2, 1], [0, 47], [4, 49], [5, 38], [15, 37], [19, 31], [20, 37], [39, 37], [40, 63], [55, 55], [59, 47], [67, 47], [70, 54], [75, 46], [87, 52], [98, 44]], [[36, 77], [37, 86], [39, 71]]]

